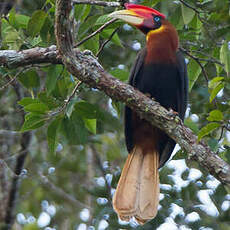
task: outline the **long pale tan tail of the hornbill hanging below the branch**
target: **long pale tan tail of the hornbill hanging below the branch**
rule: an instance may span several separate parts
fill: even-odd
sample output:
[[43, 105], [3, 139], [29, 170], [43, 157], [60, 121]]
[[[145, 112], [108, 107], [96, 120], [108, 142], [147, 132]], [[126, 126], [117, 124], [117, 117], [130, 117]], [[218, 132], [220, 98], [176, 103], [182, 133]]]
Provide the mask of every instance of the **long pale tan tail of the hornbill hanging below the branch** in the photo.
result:
[[125, 162], [113, 197], [121, 220], [135, 217], [140, 224], [153, 219], [159, 204], [159, 154], [135, 146]]

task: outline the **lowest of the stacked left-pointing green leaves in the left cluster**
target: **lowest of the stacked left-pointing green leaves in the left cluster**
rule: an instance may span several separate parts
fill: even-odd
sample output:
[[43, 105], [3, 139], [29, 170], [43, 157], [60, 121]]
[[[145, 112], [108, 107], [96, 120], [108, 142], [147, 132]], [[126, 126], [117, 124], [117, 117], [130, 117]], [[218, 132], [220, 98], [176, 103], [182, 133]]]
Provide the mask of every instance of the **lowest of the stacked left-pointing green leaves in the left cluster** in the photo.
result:
[[25, 116], [24, 124], [21, 128], [21, 132], [37, 129], [45, 124], [46, 117], [38, 114], [29, 113]]

